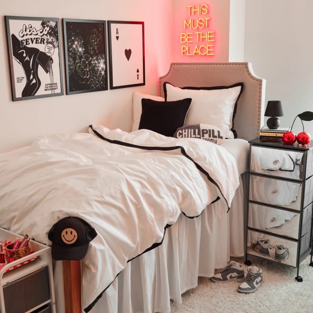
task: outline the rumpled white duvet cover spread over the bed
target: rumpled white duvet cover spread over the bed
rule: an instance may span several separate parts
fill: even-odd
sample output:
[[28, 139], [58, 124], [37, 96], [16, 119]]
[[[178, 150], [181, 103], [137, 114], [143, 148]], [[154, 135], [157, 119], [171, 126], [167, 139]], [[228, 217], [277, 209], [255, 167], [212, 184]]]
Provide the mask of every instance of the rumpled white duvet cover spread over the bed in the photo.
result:
[[86, 311], [128, 260], [162, 241], [165, 227], [182, 212], [198, 216], [217, 196], [230, 206], [239, 186], [234, 157], [208, 141], [148, 130], [94, 129], [110, 140], [136, 145], [183, 146], [222, 194], [180, 149], [147, 151], [108, 143], [91, 133], [40, 137], [0, 155], [1, 227], [51, 244], [52, 225], [78, 216], [98, 232], [83, 259]]

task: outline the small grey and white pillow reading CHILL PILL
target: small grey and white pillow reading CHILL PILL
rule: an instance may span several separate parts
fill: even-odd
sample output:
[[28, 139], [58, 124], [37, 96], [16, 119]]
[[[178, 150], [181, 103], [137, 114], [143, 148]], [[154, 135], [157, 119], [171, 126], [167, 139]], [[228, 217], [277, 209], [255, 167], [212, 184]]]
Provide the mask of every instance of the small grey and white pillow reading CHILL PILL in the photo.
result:
[[177, 128], [175, 138], [200, 138], [219, 145], [224, 139], [224, 132], [216, 126], [208, 124], [191, 124]]

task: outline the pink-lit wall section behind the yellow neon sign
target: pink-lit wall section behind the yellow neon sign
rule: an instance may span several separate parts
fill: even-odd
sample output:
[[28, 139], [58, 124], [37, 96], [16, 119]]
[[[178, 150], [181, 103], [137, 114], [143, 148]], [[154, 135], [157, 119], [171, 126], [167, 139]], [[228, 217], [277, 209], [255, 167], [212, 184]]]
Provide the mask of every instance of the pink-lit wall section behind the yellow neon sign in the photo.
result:
[[[229, 9], [230, 0], [173, 0], [173, 61], [228, 62]], [[191, 34], [181, 36], [181, 33]], [[201, 35], [214, 37], [203, 37], [201, 41]], [[208, 42], [207, 38], [215, 41]]]

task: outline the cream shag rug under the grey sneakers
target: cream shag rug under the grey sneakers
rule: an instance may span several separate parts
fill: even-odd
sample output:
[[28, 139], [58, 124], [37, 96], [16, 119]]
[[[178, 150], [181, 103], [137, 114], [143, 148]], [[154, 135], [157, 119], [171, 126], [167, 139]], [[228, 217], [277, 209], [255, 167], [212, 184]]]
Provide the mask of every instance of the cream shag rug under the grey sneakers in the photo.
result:
[[[244, 258], [231, 258], [244, 263]], [[198, 286], [182, 295], [182, 304], [171, 301], [171, 313], [312, 313], [313, 312], [313, 267], [310, 256], [297, 270], [265, 259], [249, 258], [252, 265], [263, 271], [263, 283], [254, 293], [237, 292], [239, 282], [214, 283], [209, 278], [199, 277]], [[248, 266], [244, 265], [245, 273]], [[220, 272], [216, 270], [216, 273]]]

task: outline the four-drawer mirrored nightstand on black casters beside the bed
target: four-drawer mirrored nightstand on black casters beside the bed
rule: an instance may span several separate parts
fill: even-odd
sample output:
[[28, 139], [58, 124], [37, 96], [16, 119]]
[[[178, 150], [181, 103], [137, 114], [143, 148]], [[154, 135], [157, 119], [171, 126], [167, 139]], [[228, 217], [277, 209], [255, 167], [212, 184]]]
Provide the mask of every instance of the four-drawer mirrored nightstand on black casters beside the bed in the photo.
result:
[[313, 141], [307, 147], [249, 141], [246, 265], [254, 255], [297, 268], [311, 253]]

